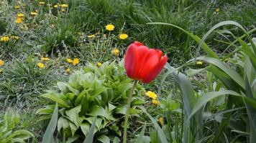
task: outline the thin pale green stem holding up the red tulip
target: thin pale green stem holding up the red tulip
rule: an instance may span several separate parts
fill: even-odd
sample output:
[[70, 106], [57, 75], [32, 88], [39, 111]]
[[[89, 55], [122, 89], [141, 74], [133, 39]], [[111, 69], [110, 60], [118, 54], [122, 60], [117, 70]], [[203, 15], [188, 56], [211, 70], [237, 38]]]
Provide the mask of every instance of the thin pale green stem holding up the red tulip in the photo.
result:
[[126, 112], [125, 117], [124, 117], [123, 143], [127, 142], [127, 126], [128, 126], [128, 119], [129, 119], [129, 109], [130, 109], [130, 105], [131, 105], [131, 102], [132, 102], [132, 94], [134, 92], [136, 84], [137, 84], [137, 81], [134, 81], [133, 86], [132, 86], [132, 90], [131, 90], [131, 92], [129, 92], [129, 99], [128, 99], [128, 103], [127, 103], [127, 112]]

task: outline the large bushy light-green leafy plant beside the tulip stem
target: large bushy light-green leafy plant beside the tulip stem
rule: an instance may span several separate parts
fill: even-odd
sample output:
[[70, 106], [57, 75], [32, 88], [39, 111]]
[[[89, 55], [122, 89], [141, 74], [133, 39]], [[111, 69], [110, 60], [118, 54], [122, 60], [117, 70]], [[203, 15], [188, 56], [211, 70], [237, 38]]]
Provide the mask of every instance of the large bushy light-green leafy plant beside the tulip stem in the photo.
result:
[[[52, 104], [39, 109], [37, 113], [50, 117], [58, 102], [58, 132], [63, 139], [83, 141], [96, 118], [95, 137], [100, 142], [109, 142], [122, 137], [122, 122], [126, 112], [127, 99], [132, 80], [124, 74], [123, 63], [100, 67], [88, 64], [83, 71], [70, 75], [68, 82], [58, 82], [57, 89], [47, 91], [42, 97]], [[130, 113], [136, 114], [135, 105], [144, 101], [140, 94], [144, 89], [137, 84], [132, 98]]]

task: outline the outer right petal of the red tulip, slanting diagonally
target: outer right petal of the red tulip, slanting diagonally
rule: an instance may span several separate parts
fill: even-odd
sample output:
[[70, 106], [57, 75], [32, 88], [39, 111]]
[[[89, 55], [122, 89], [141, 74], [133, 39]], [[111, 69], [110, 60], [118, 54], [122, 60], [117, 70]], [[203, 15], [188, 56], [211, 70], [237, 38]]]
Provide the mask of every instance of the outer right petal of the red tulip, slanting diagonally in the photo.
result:
[[147, 77], [142, 82], [147, 84], [147, 83], [150, 83], [153, 79], [155, 79], [155, 77], [157, 77], [157, 75], [165, 66], [167, 60], [168, 60], [167, 56], [163, 56], [160, 59], [159, 63], [154, 68], [152, 68], [152, 71], [149, 71], [150, 74], [148, 74]]

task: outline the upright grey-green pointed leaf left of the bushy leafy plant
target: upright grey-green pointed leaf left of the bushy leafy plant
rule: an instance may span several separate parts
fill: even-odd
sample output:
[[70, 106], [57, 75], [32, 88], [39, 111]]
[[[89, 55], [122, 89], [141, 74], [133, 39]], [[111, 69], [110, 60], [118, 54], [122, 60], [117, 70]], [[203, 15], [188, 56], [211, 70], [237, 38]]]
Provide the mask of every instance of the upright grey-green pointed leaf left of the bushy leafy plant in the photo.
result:
[[52, 114], [52, 118], [50, 119], [50, 122], [46, 128], [45, 134], [42, 137], [42, 143], [54, 143], [54, 131], [57, 127], [58, 122], [58, 103], [55, 104], [55, 109]]

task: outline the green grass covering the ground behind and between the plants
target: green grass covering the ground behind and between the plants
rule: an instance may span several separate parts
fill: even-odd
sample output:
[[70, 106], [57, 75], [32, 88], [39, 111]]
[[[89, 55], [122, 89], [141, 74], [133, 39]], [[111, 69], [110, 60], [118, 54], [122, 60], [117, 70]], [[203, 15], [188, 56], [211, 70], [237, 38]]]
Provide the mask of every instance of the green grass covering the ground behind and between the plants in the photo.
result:
[[[40, 97], [40, 94], [45, 93], [47, 89], [53, 89], [58, 81], [67, 81], [70, 73], [65, 69], [69, 68], [73, 73], [88, 63], [120, 61], [127, 45], [134, 40], [162, 49], [168, 55], [169, 63], [176, 67], [181, 66], [195, 55], [198, 44], [183, 31], [171, 26], [147, 23], [175, 24], [200, 37], [219, 21], [224, 20], [237, 21], [248, 31], [256, 26], [255, 2], [249, 0], [235, 2], [232, 0], [49, 0], [45, 3], [45, 5], [40, 5], [39, 1], [25, 0], [0, 2], [0, 37], [19, 36], [19, 39], [10, 39], [9, 42], [0, 43], [0, 59], [5, 61], [4, 66], [0, 66], [3, 70], [0, 73], [1, 114], [4, 114], [8, 107], [17, 110], [22, 122], [20, 127], [33, 132], [36, 137], [35, 142], [40, 142], [47, 124], [38, 122], [39, 115], [35, 114], [37, 109], [49, 103], [47, 99]], [[62, 8], [50, 9], [47, 6], [47, 4], [54, 6], [58, 3], [68, 4], [68, 9], [61, 11]], [[21, 6], [21, 8], [15, 9], [14, 6]], [[35, 10], [38, 10], [37, 16], [31, 16], [30, 12]], [[25, 15], [21, 24], [15, 23], [19, 13]], [[114, 31], [106, 31], [104, 28], [106, 24], [114, 24]], [[230, 29], [234, 36], [241, 36], [242, 33], [234, 26], [224, 26], [223, 29]], [[129, 38], [120, 40], [118, 35], [121, 33], [128, 34]], [[206, 43], [216, 53], [224, 52], [223, 54], [226, 55], [234, 48], [225, 51], [229, 45], [217, 41], [232, 41], [234, 37], [220, 33], [221, 31], [219, 33], [216, 31], [211, 34]], [[91, 34], [96, 37], [88, 38]], [[114, 48], [120, 50], [119, 56], [111, 54]], [[50, 57], [50, 61], [40, 60], [43, 56]], [[76, 66], [68, 64], [67, 58], [79, 58], [80, 63]], [[235, 61], [235, 57], [232, 60]], [[38, 62], [45, 64], [45, 69], [39, 69]], [[234, 66], [234, 69], [238, 69], [237, 66]], [[165, 118], [165, 122], [168, 120], [170, 128], [176, 131], [176, 142], [181, 142], [183, 134], [178, 133], [178, 127], [183, 125], [183, 122], [180, 122], [180, 119], [183, 119], [180, 89], [173, 78], [166, 77], [165, 79], [165, 73], [167, 70], [163, 71], [154, 82], [145, 84], [143, 87], [146, 90], [155, 91], [161, 100], [180, 104], [180, 107], [157, 107], [155, 109], [147, 99], [145, 107], [156, 119], [171, 114], [170, 118]], [[211, 91], [215, 84], [219, 84], [219, 80], [211, 77], [212, 75], [206, 72], [191, 77], [196, 92], [204, 94]], [[215, 82], [211, 83], [210, 81], [213, 80]], [[201, 94], [196, 96], [199, 98]], [[211, 112], [217, 112], [224, 109], [226, 102], [223, 97], [217, 98], [214, 102], [207, 104], [206, 108], [209, 108]], [[244, 131], [243, 123], [246, 121], [237, 115], [242, 113], [244, 110], [237, 109], [231, 122], [242, 122], [242, 125], [237, 124], [237, 126], [242, 127], [241, 130]], [[141, 115], [139, 120], [139, 122], [150, 121], [145, 115]], [[133, 124], [134, 128], [131, 131], [134, 134], [139, 132], [136, 129], [137, 124], [141, 123]], [[211, 138], [211, 134], [215, 134], [219, 129], [216, 126], [219, 121], [218, 119], [209, 120], [205, 124], [204, 137]], [[232, 138], [234, 142], [246, 140], [247, 136], [239, 134], [237, 128], [232, 129], [225, 132], [229, 141], [232, 141]], [[150, 136], [152, 140], [157, 138], [155, 130], [148, 134], [152, 134]]]

